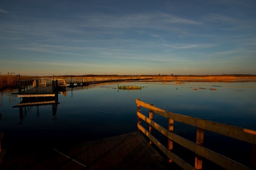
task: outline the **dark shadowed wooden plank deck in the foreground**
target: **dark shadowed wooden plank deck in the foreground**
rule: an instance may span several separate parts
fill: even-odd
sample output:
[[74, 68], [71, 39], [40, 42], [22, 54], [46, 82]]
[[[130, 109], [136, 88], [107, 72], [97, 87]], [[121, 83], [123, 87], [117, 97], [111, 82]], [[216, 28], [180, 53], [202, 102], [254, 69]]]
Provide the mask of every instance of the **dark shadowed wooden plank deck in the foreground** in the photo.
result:
[[[58, 150], [58, 148], [56, 148]], [[59, 151], [59, 152], [58, 152]], [[1, 170], [166, 170], [167, 162], [140, 132], [3, 161]], [[63, 154], [66, 156], [64, 156]], [[68, 157], [69, 158], [68, 158]], [[83, 166], [85, 165], [85, 166]]]

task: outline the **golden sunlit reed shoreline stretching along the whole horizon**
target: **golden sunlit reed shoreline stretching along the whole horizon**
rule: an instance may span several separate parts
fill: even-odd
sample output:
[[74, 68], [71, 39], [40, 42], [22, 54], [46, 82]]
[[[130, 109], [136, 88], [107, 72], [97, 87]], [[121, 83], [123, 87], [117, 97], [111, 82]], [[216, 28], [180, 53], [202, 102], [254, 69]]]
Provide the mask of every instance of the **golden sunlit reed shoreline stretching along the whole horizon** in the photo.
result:
[[[36, 78], [118, 78], [118, 77], [152, 77], [151, 80], [157, 82], [256, 82], [256, 75], [251, 74], [225, 74], [225, 75], [61, 75], [61, 76], [27, 76], [20, 75], [20, 80]], [[0, 74], [0, 89], [16, 88], [19, 76], [14, 73]]]

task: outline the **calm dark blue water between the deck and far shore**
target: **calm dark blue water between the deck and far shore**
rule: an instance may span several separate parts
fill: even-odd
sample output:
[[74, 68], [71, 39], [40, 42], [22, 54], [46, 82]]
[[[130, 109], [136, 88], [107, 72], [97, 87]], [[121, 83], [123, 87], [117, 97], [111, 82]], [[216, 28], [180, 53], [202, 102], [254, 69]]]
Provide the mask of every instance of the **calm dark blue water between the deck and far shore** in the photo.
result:
[[[117, 90], [117, 83], [79, 87], [79, 90], [68, 91], [66, 97], [59, 94], [57, 111], [53, 105], [33, 106], [23, 108], [21, 115], [19, 108], [13, 108], [22, 101], [11, 95], [17, 90], [0, 92], [0, 131], [4, 132], [1, 146], [6, 149], [4, 159], [21, 151], [61, 148], [136, 131], [135, 99], [166, 111], [256, 130], [256, 82], [118, 84], [142, 86], [142, 90]], [[25, 109], [29, 110], [25, 113]], [[142, 112], [148, 113], [146, 110]], [[167, 119], [158, 115], [154, 115], [154, 119], [167, 127]], [[174, 132], [195, 141], [194, 127], [174, 122]], [[156, 136], [166, 143], [165, 137], [157, 132]], [[240, 144], [242, 147], [237, 148]], [[242, 153], [242, 162], [250, 164], [250, 145], [243, 142], [205, 132], [204, 145], [237, 160], [241, 159], [237, 153]]]

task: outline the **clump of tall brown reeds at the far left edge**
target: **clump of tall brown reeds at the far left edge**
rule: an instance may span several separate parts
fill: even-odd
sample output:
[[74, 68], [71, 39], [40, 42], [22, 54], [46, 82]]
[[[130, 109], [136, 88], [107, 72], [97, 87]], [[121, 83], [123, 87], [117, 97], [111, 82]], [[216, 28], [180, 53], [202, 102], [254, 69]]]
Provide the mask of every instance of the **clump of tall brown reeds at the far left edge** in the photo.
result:
[[[32, 79], [32, 76], [20, 76], [20, 80]], [[14, 72], [1, 74], [0, 73], [0, 89], [5, 88], [17, 88], [18, 87], [18, 75]]]

